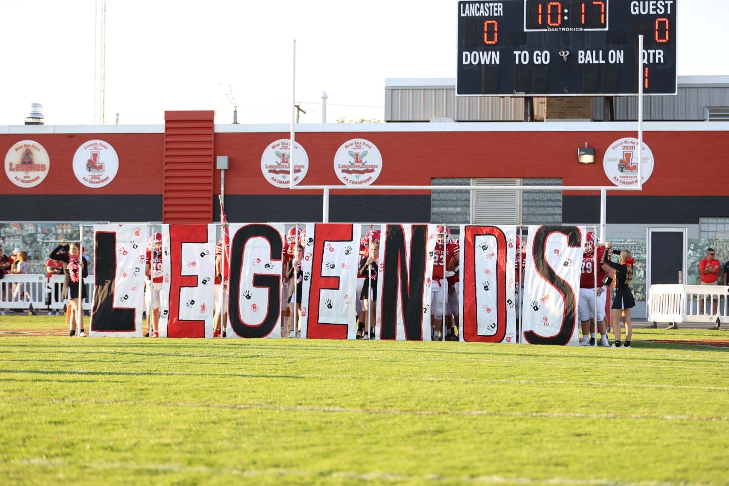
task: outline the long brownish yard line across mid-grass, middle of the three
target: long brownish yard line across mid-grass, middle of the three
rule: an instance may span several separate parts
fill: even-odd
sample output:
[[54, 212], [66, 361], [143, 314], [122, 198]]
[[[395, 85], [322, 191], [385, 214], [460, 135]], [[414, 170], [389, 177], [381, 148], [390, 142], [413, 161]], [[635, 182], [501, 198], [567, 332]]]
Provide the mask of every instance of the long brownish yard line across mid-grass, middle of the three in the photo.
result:
[[617, 415], [609, 413], [573, 413], [573, 412], [493, 412], [489, 410], [417, 410], [417, 409], [378, 409], [360, 407], [317, 407], [315, 405], [267, 405], [267, 404], [204, 404], [184, 401], [134, 401], [109, 399], [57, 399], [34, 396], [0, 396], [6, 401], [37, 401], [50, 403], [95, 403], [112, 405], [143, 405], [153, 407], [190, 407], [190, 408], [222, 408], [239, 410], [278, 410], [282, 412], [324, 412], [324, 413], [368, 413], [394, 415], [459, 415], [463, 417], [535, 417], [535, 418], [621, 418], [634, 420], [690, 420], [699, 422], [716, 422], [729, 420], [729, 417], [692, 417], [690, 415]]

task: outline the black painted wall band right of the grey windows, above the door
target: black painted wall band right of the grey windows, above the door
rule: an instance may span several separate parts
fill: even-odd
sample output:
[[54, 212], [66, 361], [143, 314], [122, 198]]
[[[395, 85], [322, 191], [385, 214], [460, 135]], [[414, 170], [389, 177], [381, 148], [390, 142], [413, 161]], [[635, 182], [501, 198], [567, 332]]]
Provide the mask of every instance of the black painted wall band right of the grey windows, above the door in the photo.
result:
[[[699, 217], [726, 217], [729, 196], [607, 196], [613, 224], [698, 224]], [[600, 220], [599, 196], [563, 196], [562, 221]]]

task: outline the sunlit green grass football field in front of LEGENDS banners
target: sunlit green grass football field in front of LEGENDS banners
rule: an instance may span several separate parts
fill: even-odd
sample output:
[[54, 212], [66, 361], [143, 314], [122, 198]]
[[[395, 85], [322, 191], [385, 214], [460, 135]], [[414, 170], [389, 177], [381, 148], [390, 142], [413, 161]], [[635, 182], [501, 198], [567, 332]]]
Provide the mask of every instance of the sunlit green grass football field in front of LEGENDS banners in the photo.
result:
[[[8, 329], [62, 318], [0, 316]], [[0, 338], [0, 484], [727, 484], [728, 339]]]

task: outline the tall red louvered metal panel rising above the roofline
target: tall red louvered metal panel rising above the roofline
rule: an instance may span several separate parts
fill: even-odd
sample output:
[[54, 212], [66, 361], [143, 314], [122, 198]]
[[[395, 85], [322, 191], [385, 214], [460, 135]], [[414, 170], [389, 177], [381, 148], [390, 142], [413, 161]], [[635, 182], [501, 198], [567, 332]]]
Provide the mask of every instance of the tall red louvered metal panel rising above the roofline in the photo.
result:
[[214, 111], [165, 111], [163, 222], [212, 222], [214, 139]]

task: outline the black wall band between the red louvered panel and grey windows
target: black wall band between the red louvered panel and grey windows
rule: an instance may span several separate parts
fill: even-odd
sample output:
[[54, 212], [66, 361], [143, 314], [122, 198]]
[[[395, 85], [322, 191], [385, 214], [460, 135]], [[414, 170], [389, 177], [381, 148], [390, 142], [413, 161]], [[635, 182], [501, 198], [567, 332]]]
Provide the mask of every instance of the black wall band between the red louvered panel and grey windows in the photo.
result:
[[[225, 216], [229, 222], [321, 222], [319, 195], [226, 195]], [[213, 217], [220, 221], [215, 197]], [[429, 195], [336, 195], [330, 196], [329, 221], [397, 222], [430, 221]]]

